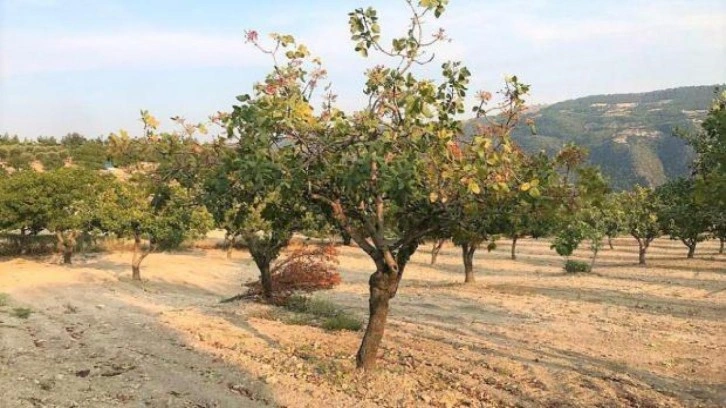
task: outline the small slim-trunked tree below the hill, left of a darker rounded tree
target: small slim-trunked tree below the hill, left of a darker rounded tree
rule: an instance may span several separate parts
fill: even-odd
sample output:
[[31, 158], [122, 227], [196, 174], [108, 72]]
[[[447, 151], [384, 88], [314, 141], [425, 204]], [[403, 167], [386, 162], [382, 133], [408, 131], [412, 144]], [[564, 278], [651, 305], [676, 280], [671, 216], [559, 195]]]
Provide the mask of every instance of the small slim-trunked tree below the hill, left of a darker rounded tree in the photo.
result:
[[638, 263], [645, 265], [645, 253], [650, 243], [660, 235], [658, 213], [660, 200], [653, 190], [635, 186], [619, 196], [623, 229], [638, 241]]

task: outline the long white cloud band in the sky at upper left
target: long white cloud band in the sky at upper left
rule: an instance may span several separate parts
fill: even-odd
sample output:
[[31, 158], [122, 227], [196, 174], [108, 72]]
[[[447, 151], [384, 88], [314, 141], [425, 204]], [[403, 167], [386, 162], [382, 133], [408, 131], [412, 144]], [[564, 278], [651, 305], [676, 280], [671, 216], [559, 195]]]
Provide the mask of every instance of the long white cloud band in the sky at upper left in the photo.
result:
[[142, 30], [103, 34], [12, 33], [2, 76], [94, 69], [249, 67], [266, 62], [239, 35]]

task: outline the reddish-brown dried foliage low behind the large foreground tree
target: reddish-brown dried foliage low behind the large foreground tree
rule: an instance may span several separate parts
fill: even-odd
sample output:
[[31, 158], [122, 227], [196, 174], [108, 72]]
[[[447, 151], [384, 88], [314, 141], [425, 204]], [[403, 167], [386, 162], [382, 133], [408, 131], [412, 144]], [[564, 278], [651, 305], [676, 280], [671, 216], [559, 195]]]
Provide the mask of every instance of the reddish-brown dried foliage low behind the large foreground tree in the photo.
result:
[[[331, 289], [341, 282], [337, 266], [338, 251], [332, 245], [293, 248], [271, 268], [273, 302], [284, 303], [295, 292]], [[262, 296], [259, 280], [246, 286], [249, 288], [248, 296]]]

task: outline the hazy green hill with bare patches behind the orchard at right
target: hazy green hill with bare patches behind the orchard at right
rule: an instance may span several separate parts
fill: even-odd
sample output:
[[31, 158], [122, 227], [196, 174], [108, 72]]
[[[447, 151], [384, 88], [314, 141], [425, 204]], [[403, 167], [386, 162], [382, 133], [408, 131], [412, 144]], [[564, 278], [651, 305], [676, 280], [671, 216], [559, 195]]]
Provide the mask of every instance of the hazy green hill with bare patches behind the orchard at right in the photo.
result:
[[515, 140], [528, 152], [554, 153], [565, 143], [587, 148], [616, 190], [657, 186], [688, 174], [693, 152], [674, 136], [693, 130], [706, 115], [716, 85], [646, 93], [595, 95], [533, 112], [537, 135], [518, 129]]

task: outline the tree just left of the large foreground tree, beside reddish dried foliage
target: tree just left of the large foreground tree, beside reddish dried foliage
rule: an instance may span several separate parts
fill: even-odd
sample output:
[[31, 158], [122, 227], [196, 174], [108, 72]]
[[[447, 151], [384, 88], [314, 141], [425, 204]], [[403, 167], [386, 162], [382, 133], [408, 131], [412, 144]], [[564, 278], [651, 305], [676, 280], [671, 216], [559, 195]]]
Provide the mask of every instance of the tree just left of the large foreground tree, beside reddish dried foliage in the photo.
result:
[[[275, 41], [277, 46], [289, 42], [284, 36], [275, 37]], [[297, 52], [300, 54], [292, 55], [291, 60], [306, 55], [305, 50]], [[254, 96], [238, 97], [241, 104], [224, 118], [227, 136], [236, 143], [224, 151], [221, 164], [205, 183], [207, 207], [228, 235], [238, 235], [247, 245], [268, 301], [273, 299], [271, 264], [293, 232], [301, 230], [309, 219], [301, 200], [304, 185], [296, 159], [301, 146], [290, 143], [284, 132], [289, 125], [286, 120], [304, 118], [286, 119], [281, 114], [305, 105], [298, 89], [277, 82], [280, 77], [297, 75], [297, 69], [293, 65], [278, 67], [264, 84], [255, 86]]]

